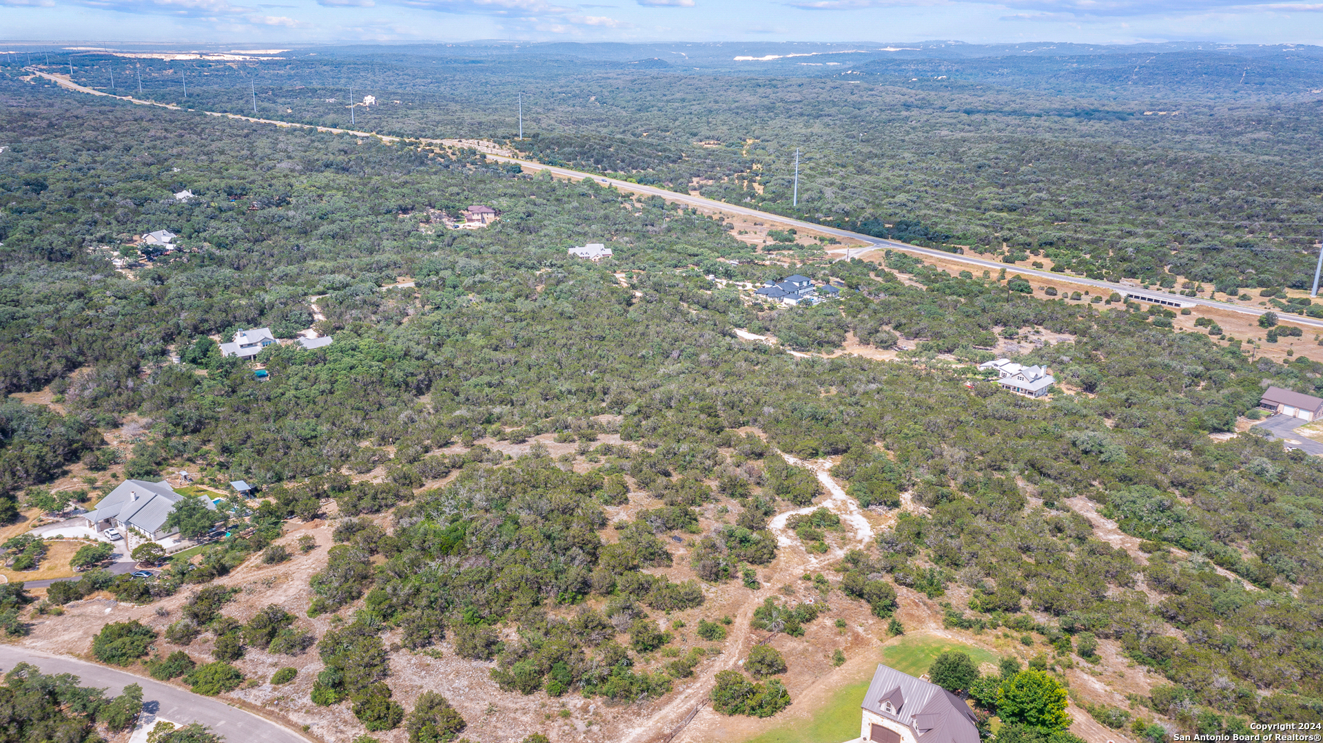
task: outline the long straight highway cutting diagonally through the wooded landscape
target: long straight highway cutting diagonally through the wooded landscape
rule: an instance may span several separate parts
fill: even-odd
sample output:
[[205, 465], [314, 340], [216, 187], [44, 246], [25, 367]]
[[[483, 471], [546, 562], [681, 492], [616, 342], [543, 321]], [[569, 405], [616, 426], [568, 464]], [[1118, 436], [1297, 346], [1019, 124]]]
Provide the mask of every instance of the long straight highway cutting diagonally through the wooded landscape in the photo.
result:
[[[108, 93], [103, 93], [101, 90], [94, 90], [94, 89], [90, 89], [90, 87], [85, 87], [85, 86], [77, 85], [73, 81], [70, 81], [69, 78], [66, 78], [66, 77], [53, 75], [53, 74], [49, 74], [49, 73], [42, 73], [42, 71], [34, 70], [32, 67], [28, 67], [28, 70], [32, 71], [32, 73], [34, 73], [34, 74], [37, 74], [37, 75], [41, 75], [45, 79], [56, 82], [56, 83], [58, 83], [58, 85], [61, 85], [64, 87], [67, 87], [70, 90], [77, 90], [78, 93], [89, 93], [91, 95], [110, 95]], [[167, 103], [155, 103], [152, 100], [140, 100], [140, 99], [136, 99], [136, 98], [132, 98], [132, 97], [127, 97], [127, 95], [119, 95], [119, 97], [114, 97], [114, 98], [119, 98], [120, 100], [130, 100], [132, 103], [139, 103], [139, 104], [144, 104], [144, 106], [163, 106], [165, 108], [180, 110], [179, 106], [167, 104]], [[542, 163], [533, 163], [531, 160], [521, 160], [519, 157], [512, 157], [512, 156], [507, 155], [505, 153], [507, 151], [501, 151], [497, 147], [491, 147], [490, 144], [482, 143], [480, 140], [398, 137], [398, 136], [378, 135], [376, 132], [363, 132], [363, 131], [355, 131], [355, 130], [340, 130], [340, 128], [333, 128], [333, 127], [319, 127], [319, 126], [314, 126], [314, 124], [298, 124], [298, 123], [291, 123], [291, 122], [280, 122], [280, 120], [275, 120], [275, 119], [257, 119], [257, 118], [253, 118], [253, 116], [239, 116], [237, 114], [221, 114], [221, 112], [214, 112], [214, 111], [205, 111], [205, 114], [209, 115], [209, 116], [226, 116], [226, 118], [230, 118], [230, 119], [239, 119], [239, 120], [254, 122], [254, 123], [259, 123], [259, 124], [273, 124], [273, 126], [278, 126], [278, 127], [308, 128], [308, 130], [318, 130], [318, 131], [321, 131], [321, 132], [331, 132], [331, 134], [349, 134], [349, 135], [355, 135], [355, 136], [374, 136], [374, 137], [377, 137], [377, 139], [380, 139], [382, 141], [388, 141], [388, 143], [406, 141], [406, 143], [417, 143], [417, 144], [423, 144], [423, 145], [443, 144], [443, 145], [452, 145], [452, 147], [454, 145], [458, 145], [458, 147], [472, 147], [475, 149], [479, 149], [479, 151], [484, 152], [487, 155], [487, 157], [491, 159], [491, 160], [496, 160], [499, 163], [519, 164], [525, 171], [549, 171], [553, 175], [562, 176], [562, 177], [566, 177], [566, 178], [593, 178], [593, 180], [595, 180], [597, 182], [599, 182], [602, 185], [611, 185], [611, 186], [615, 186], [617, 189], [620, 189], [620, 190], [627, 190], [627, 192], [631, 192], [631, 193], [642, 193], [642, 194], [647, 194], [647, 196], [660, 196], [660, 197], [663, 197], [663, 198], [665, 198], [668, 201], [673, 201], [676, 204], [684, 204], [684, 205], [688, 205], [688, 206], [697, 206], [697, 208], [703, 208], [703, 209], [721, 210], [721, 212], [726, 212], [726, 213], [730, 213], [730, 214], [742, 214], [745, 217], [754, 217], [754, 218], [758, 218], [758, 219], [766, 219], [767, 222], [775, 222], [778, 225], [785, 225], [785, 226], [796, 227], [796, 229], [803, 227], [806, 230], [816, 230], [819, 233], [828, 234], [828, 235], [835, 235], [835, 237], [840, 237], [840, 238], [860, 241], [860, 242], [864, 242], [864, 243], [872, 246], [873, 249], [902, 250], [905, 253], [913, 253], [913, 254], [919, 254], [919, 255], [927, 255], [927, 256], [931, 256], [931, 258], [942, 258], [945, 260], [953, 260], [953, 262], [957, 262], [957, 263], [963, 263], [966, 266], [978, 267], [980, 270], [982, 268], [990, 268], [990, 270], [994, 270], [994, 268], [995, 270], [1005, 268], [1007, 271], [1013, 271], [1016, 274], [1020, 274], [1021, 276], [1035, 276], [1035, 278], [1039, 278], [1039, 279], [1052, 279], [1054, 282], [1062, 282], [1062, 283], [1070, 283], [1070, 284], [1077, 284], [1077, 286], [1082, 286], [1082, 287], [1091, 287], [1091, 288], [1107, 290], [1107, 291], [1113, 291], [1113, 292], [1135, 292], [1135, 291], [1140, 291], [1140, 290], [1138, 290], [1134, 286], [1115, 284], [1115, 283], [1111, 283], [1111, 282], [1099, 282], [1099, 280], [1095, 280], [1095, 279], [1084, 279], [1084, 278], [1080, 278], [1080, 276], [1069, 276], [1066, 274], [1053, 274], [1050, 271], [1039, 271], [1036, 268], [1024, 268], [1021, 266], [1013, 266], [1013, 264], [1009, 264], [1009, 263], [999, 263], [999, 262], [995, 262], [995, 260], [984, 260], [982, 258], [970, 258], [967, 255], [960, 255], [960, 254], [955, 254], [955, 253], [946, 253], [943, 250], [933, 250], [930, 247], [921, 247], [921, 246], [917, 246], [917, 245], [909, 245], [909, 243], [890, 241], [890, 239], [875, 238], [872, 235], [864, 235], [864, 234], [860, 234], [860, 233], [852, 233], [849, 230], [840, 230], [840, 229], [836, 229], [836, 227], [828, 227], [826, 225], [818, 225], [815, 222], [804, 222], [802, 219], [792, 219], [790, 217], [782, 217], [779, 214], [771, 214], [769, 212], [759, 212], [757, 209], [750, 209], [747, 206], [738, 206], [736, 204], [726, 204], [725, 201], [717, 201], [714, 198], [706, 198], [706, 197], [703, 197], [703, 196], [692, 196], [692, 194], [687, 194], [687, 193], [677, 193], [677, 192], [667, 190], [667, 189], [663, 189], [663, 188], [647, 186], [647, 185], [640, 185], [640, 184], [631, 184], [630, 181], [622, 181], [622, 180], [618, 180], [618, 178], [609, 178], [609, 177], [605, 177], [605, 176], [595, 176], [593, 173], [583, 173], [583, 172], [579, 172], [579, 171], [572, 171], [569, 168], [561, 168], [561, 167], [557, 167], [557, 165], [545, 165]], [[844, 249], [843, 247], [843, 249], [832, 250], [830, 253], [844, 253], [845, 254], [845, 255], [843, 255], [843, 258], [844, 258], [844, 256], [848, 256], [849, 253], [853, 251], [853, 250], [856, 250], [856, 249]], [[869, 249], [864, 249], [864, 250], [869, 250]], [[1142, 293], [1154, 293], [1155, 296], [1158, 295], [1158, 292], [1142, 292]], [[1238, 304], [1230, 304], [1230, 303], [1226, 303], [1226, 301], [1217, 301], [1217, 300], [1201, 299], [1201, 297], [1195, 297], [1195, 296], [1179, 296], [1179, 295], [1166, 295], [1166, 296], [1171, 297], [1172, 300], [1179, 300], [1179, 301], [1185, 303], [1185, 304], [1195, 304], [1195, 305], [1199, 305], [1199, 307], [1209, 307], [1209, 308], [1225, 309], [1228, 312], [1237, 312], [1237, 313], [1241, 313], [1241, 315], [1250, 315], [1250, 316], [1254, 316], [1254, 317], [1257, 317], [1259, 315], [1263, 315], [1266, 312], [1275, 311], [1273, 308], [1244, 307], [1244, 305], [1238, 305]], [[1299, 315], [1283, 315], [1283, 319], [1289, 320], [1290, 323], [1297, 324], [1297, 325], [1307, 325], [1310, 328], [1316, 328], [1316, 329], [1323, 331], [1323, 320], [1315, 320], [1315, 319], [1303, 317], [1303, 316], [1299, 316]]]

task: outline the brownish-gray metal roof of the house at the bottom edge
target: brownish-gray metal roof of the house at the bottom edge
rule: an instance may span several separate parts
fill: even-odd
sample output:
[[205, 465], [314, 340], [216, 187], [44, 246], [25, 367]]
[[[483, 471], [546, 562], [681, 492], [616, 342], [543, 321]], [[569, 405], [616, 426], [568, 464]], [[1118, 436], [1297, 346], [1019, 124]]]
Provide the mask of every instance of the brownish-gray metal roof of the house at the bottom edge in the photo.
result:
[[[892, 711], [882, 702], [890, 702]], [[890, 666], [878, 664], [861, 706], [909, 727], [921, 743], [979, 743], [974, 710], [964, 701], [937, 684]]]

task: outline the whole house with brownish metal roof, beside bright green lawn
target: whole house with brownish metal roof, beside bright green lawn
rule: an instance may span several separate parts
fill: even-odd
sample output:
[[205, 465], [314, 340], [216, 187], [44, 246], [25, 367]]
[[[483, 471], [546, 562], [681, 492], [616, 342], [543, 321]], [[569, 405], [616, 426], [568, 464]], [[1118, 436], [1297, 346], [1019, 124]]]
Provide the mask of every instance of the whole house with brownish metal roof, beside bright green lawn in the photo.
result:
[[877, 666], [863, 709], [857, 743], [979, 743], [974, 710], [963, 699], [890, 666]]

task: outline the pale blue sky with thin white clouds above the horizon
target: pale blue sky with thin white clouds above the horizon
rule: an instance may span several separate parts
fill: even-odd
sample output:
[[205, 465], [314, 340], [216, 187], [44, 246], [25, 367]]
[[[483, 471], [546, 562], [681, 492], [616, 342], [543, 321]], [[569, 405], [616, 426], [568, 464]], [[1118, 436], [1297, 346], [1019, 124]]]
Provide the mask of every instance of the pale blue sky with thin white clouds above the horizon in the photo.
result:
[[1323, 44], [1323, 0], [0, 0], [13, 41]]

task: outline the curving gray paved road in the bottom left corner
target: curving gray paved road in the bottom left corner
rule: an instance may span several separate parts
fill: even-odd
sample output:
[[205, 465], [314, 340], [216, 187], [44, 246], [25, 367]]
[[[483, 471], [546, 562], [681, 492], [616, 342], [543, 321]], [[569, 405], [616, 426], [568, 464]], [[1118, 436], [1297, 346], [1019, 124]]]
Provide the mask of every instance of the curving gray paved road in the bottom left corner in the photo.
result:
[[112, 668], [105, 668], [77, 658], [53, 656], [15, 645], [0, 645], [0, 668], [12, 669], [29, 662], [41, 673], [71, 673], [83, 686], [107, 687], [107, 694], [119, 694], [128, 684], [143, 687], [143, 710], [157, 719], [181, 724], [200, 722], [232, 743], [310, 743], [303, 735], [261, 718], [253, 713], [232, 707], [220, 699], [185, 691], [151, 678], [143, 678]]

